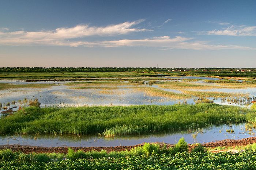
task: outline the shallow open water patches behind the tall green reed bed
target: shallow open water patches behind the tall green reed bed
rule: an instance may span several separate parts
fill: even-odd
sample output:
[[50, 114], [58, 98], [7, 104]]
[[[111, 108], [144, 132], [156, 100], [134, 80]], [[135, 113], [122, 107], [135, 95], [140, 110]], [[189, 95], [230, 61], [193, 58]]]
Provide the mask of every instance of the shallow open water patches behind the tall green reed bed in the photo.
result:
[[[218, 80], [219, 78], [210, 77], [165, 77], [172, 78], [176, 81], [181, 79], [202, 79], [202, 80]], [[67, 86], [68, 82], [17, 82], [1, 80], [0, 83], [11, 83], [11, 84], [55, 84], [49, 88], [15, 88], [0, 90], [0, 103], [11, 103], [11, 101], [34, 99], [38, 98], [41, 103], [41, 107], [48, 106], [84, 106], [84, 105], [173, 105], [177, 103], [195, 104], [195, 98], [187, 99], [176, 99], [171, 100], [167, 97], [160, 96], [148, 96], [144, 92], [134, 90], [129, 88], [131, 86], [119, 86], [117, 89], [113, 89], [112, 92], [103, 93], [101, 89], [71, 89]], [[194, 82], [190, 82], [194, 83]], [[197, 81], [195, 83], [200, 83], [202, 85], [211, 85], [211, 83], [205, 83], [203, 81]], [[146, 85], [149, 86], [149, 85]], [[120, 88], [121, 87], [121, 88]], [[157, 84], [153, 84], [151, 87], [165, 90], [167, 92], [182, 93], [176, 89], [163, 89], [159, 88]], [[226, 92], [226, 93], [240, 93], [248, 94], [251, 98], [256, 96], [256, 88], [245, 88], [245, 89], [225, 89], [225, 88], [214, 88], [207, 90], [191, 89], [191, 91], [208, 91], [208, 92]], [[250, 101], [243, 101], [240, 103], [231, 102], [223, 100], [223, 98], [210, 98], [215, 103], [225, 104], [225, 105], [240, 105], [240, 106], [250, 106]], [[15, 111], [19, 104], [11, 105], [10, 109], [13, 108]], [[3, 112], [2, 108], [0, 112]]]

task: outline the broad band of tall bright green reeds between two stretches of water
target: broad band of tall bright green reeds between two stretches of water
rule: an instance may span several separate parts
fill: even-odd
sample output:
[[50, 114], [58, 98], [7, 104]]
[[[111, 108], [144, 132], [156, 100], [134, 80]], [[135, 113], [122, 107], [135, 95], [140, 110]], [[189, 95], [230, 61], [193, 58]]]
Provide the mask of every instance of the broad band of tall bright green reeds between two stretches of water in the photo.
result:
[[[143, 134], [256, 122], [255, 111], [217, 104], [28, 107], [0, 119], [0, 134]], [[107, 135], [108, 136], [108, 135]]]

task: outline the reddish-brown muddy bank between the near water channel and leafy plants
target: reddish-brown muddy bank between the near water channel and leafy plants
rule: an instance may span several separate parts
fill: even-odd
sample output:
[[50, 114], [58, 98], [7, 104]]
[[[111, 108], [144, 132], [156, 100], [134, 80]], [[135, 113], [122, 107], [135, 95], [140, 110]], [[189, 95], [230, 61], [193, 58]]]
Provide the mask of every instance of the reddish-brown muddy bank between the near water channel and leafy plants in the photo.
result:
[[[204, 147], [217, 147], [217, 146], [245, 146], [247, 144], [256, 143], [256, 137], [251, 138], [244, 138], [239, 140], [234, 139], [225, 139], [220, 140], [216, 142], [208, 142], [203, 143], [202, 145]], [[142, 146], [142, 144], [138, 144], [135, 146], [113, 146], [113, 147], [71, 147], [74, 150], [83, 150], [83, 151], [101, 151], [106, 150], [107, 152], [111, 151], [125, 151], [125, 150], [131, 150], [131, 148], [136, 146]], [[163, 143], [160, 143], [163, 144]], [[173, 144], [165, 143], [167, 147], [172, 147]], [[191, 147], [191, 144], [189, 144], [189, 147]], [[2, 149], [11, 149], [12, 151], [20, 151], [23, 153], [30, 153], [30, 152], [44, 152], [44, 153], [67, 153], [69, 147], [40, 147], [40, 146], [23, 146], [23, 145], [1, 145], [0, 150]]]

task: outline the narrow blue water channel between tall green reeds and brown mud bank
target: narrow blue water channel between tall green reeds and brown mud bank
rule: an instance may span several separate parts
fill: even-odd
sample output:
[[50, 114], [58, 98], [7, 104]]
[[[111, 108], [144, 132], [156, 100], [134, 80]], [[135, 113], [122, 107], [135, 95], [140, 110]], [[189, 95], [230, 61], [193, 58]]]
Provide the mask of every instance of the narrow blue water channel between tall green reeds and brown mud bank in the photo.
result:
[[[7, 135], [0, 136], [0, 145], [20, 144], [44, 147], [133, 146], [143, 142], [175, 144], [181, 137], [184, 137], [188, 143], [204, 143], [224, 139], [243, 139], [255, 136], [255, 130], [248, 131], [245, 126], [245, 124], [221, 125], [192, 132], [182, 131], [170, 134], [116, 136], [114, 138], [105, 138], [99, 135]], [[226, 131], [231, 129], [234, 130], [234, 132]]]

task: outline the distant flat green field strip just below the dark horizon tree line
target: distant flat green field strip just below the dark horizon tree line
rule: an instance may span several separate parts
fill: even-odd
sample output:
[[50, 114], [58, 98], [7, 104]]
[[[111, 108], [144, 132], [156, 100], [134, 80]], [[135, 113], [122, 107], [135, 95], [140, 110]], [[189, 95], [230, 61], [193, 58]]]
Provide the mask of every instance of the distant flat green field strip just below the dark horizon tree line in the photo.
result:
[[[160, 74], [159, 74], [160, 73]], [[0, 79], [71, 80], [80, 78], [139, 78], [156, 76], [244, 77], [256, 78], [256, 73], [215, 72], [0, 72]]]

